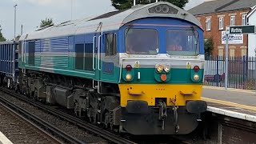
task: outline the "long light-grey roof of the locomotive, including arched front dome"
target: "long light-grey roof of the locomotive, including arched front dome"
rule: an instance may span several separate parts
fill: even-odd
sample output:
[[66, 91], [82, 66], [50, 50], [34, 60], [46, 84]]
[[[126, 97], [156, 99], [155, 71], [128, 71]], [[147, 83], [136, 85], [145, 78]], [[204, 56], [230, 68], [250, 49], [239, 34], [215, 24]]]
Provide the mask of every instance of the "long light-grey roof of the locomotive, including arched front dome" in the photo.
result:
[[[155, 6], [169, 6], [172, 10], [170, 14], [150, 13], [150, 10]], [[77, 20], [62, 22], [56, 26], [45, 26], [35, 30], [29, 34], [23, 34], [19, 40], [30, 40], [40, 38], [64, 37], [74, 34], [86, 34], [92, 32], [102, 32], [109, 30], [118, 30], [121, 26], [128, 22], [132, 22], [139, 18], [150, 17], [167, 17], [167, 18], [182, 18], [188, 22], [202, 27], [194, 15], [182, 10], [178, 6], [174, 6], [169, 2], [154, 2], [148, 5], [136, 5], [127, 10], [116, 10], [106, 14], [98, 15], [93, 18], [81, 18]]]

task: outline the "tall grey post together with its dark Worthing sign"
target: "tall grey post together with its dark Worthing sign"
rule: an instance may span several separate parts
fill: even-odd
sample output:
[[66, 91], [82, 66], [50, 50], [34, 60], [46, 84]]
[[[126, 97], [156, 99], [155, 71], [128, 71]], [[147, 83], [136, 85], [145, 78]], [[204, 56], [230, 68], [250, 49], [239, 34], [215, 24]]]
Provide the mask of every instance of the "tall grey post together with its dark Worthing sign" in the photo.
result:
[[256, 26], [226, 26], [225, 90], [227, 90], [227, 79], [228, 79], [229, 34], [256, 34]]

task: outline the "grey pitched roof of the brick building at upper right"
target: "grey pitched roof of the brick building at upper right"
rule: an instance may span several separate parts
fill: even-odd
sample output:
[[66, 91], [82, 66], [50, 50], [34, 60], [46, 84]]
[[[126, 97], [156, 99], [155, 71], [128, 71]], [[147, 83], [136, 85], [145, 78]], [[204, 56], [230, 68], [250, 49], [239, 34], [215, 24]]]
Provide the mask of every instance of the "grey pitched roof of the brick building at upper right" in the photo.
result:
[[252, 8], [255, 5], [255, 0], [211, 0], [203, 2], [188, 11], [194, 15], [213, 14], [223, 11]]

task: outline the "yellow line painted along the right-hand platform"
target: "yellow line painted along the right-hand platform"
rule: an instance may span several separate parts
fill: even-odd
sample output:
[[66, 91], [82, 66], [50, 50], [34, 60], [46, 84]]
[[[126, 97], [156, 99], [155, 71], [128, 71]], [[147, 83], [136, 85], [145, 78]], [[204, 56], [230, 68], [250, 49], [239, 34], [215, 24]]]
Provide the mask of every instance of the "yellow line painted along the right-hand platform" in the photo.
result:
[[238, 103], [234, 103], [234, 102], [226, 102], [226, 101], [221, 101], [218, 99], [203, 98], [203, 97], [201, 97], [201, 100], [206, 101], [206, 102], [213, 102], [213, 103], [218, 103], [218, 104], [222, 104], [222, 105], [226, 105], [226, 106], [234, 106], [234, 107], [240, 107], [240, 108], [247, 109], [247, 110], [256, 111], [256, 106], [246, 106], [246, 105], [242, 105], [242, 104], [238, 104]]

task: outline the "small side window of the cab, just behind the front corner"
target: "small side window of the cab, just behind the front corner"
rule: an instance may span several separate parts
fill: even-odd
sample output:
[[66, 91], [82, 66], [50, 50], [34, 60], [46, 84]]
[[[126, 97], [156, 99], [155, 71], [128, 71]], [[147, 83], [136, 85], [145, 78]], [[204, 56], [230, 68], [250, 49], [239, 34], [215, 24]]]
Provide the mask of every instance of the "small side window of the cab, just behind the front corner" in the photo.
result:
[[117, 54], [117, 34], [106, 34], [106, 57]]

